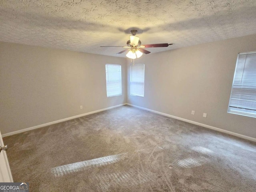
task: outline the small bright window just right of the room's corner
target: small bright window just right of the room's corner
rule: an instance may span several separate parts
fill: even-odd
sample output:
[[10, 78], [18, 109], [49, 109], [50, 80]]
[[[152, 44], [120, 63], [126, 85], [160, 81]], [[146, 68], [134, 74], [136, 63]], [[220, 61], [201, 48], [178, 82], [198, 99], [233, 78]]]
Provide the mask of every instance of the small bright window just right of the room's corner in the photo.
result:
[[144, 64], [131, 65], [130, 93], [144, 97]]

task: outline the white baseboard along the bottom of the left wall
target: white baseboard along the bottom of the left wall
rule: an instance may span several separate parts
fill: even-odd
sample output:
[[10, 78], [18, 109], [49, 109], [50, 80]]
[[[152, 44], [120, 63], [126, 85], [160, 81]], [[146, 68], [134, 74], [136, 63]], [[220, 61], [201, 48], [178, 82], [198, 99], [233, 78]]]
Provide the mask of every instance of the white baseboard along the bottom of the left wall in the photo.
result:
[[92, 112], [88, 112], [88, 113], [84, 113], [84, 114], [80, 114], [80, 115], [76, 115], [76, 116], [72, 116], [72, 117], [68, 117], [68, 118], [64, 118], [64, 119], [60, 119], [60, 120], [56, 120], [56, 121], [53, 121], [53, 122], [49, 122], [49, 123], [45, 123], [45, 124], [41, 124], [41, 125], [29, 127], [29, 128], [25, 128], [25, 129], [22, 129], [22, 130], [2, 134], [2, 137], [7, 137], [7, 136], [10, 136], [10, 135], [22, 133], [22, 132], [25, 132], [25, 131], [29, 131], [29, 130], [33, 130], [33, 129], [37, 129], [37, 128], [41, 128], [41, 127], [45, 127], [45, 126], [49, 126], [49, 125], [52, 125], [52, 124], [64, 122], [64, 121], [67, 121], [67, 120], [71, 120], [71, 119], [75, 119], [75, 118], [78, 118], [78, 117], [90, 115], [90, 114], [93, 114], [93, 113], [98, 113], [98, 112], [105, 111], [105, 110], [108, 110], [108, 109], [120, 107], [120, 106], [123, 106], [123, 105], [126, 105], [126, 104], [127, 103], [124, 103], [124, 104], [120, 104], [120, 105], [116, 105], [116, 106], [112, 106], [112, 107], [108, 107], [108, 108], [104, 108], [104, 109], [100, 109], [100, 110], [96, 110], [96, 111], [92, 111]]

